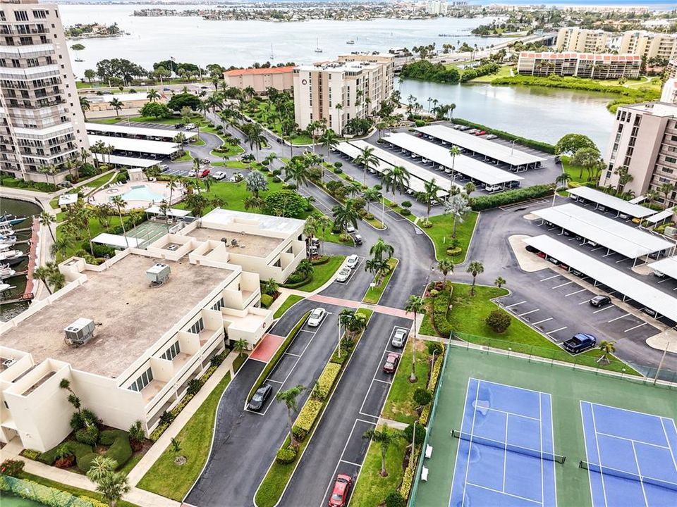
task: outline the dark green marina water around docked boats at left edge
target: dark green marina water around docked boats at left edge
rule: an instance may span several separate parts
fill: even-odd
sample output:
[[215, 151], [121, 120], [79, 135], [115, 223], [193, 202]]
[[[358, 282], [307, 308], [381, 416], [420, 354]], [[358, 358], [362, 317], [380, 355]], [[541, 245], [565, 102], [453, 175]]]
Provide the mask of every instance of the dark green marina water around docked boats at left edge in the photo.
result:
[[[0, 205], [2, 213], [12, 213], [17, 216], [25, 216], [26, 220], [23, 220], [22, 223], [14, 225], [14, 230], [25, 229], [31, 226], [33, 215], [40, 213], [40, 208], [37, 204], [32, 204], [28, 201], [18, 201], [16, 199], [5, 199], [2, 198], [2, 204]], [[17, 232], [16, 233], [17, 241], [22, 241], [24, 239], [30, 239], [30, 231]], [[25, 244], [16, 244], [11, 247], [14, 250], [20, 250], [27, 252], [29, 249], [28, 243]], [[28, 256], [20, 264], [12, 266], [12, 269], [17, 273], [20, 271], [25, 271], [28, 268]], [[26, 276], [20, 275], [3, 280], [3, 283], [8, 283], [12, 285], [13, 289], [8, 289], [3, 292], [2, 297], [5, 299], [13, 299], [21, 294], [26, 289]], [[10, 320], [13, 317], [16, 317], [19, 313], [23, 312], [28, 308], [28, 303], [12, 303], [12, 304], [2, 304], [2, 299], [0, 299], [0, 320]], [[4, 504], [3, 504], [4, 507]]]

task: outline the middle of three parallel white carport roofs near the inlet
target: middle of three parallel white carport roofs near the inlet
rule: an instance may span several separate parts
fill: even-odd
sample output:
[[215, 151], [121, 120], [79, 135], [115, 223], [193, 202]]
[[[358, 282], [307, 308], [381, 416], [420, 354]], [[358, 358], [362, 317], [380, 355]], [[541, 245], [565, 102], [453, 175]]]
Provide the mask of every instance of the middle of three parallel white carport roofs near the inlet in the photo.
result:
[[449, 150], [444, 146], [439, 146], [420, 137], [415, 137], [404, 132], [397, 134], [390, 134], [383, 138], [384, 141], [394, 144], [399, 148], [413, 151], [413, 153], [425, 157], [433, 162], [437, 162], [445, 167], [451, 167], [457, 173], [461, 173], [474, 180], [478, 180], [484, 184], [504, 184], [511, 181], [520, 181], [524, 178], [513, 175], [508, 171], [494, 167], [484, 162], [476, 161], [465, 155], [456, 156], [456, 161], [453, 162]]

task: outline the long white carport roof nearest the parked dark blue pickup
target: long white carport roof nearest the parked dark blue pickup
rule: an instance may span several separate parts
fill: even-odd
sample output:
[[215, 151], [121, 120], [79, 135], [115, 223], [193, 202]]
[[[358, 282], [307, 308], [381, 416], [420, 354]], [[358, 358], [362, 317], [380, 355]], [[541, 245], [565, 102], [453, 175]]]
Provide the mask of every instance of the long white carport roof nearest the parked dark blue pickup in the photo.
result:
[[669, 294], [545, 234], [525, 239], [525, 243], [677, 322], [677, 299]]

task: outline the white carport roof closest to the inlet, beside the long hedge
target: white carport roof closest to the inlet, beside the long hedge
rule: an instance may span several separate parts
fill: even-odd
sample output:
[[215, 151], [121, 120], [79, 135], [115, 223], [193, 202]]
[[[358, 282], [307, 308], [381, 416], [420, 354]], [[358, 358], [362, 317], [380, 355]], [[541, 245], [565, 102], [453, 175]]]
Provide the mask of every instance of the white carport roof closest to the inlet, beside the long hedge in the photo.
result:
[[543, 157], [532, 155], [526, 151], [514, 149], [512, 146], [499, 144], [489, 139], [453, 130], [453, 128], [445, 127], [444, 125], [426, 125], [425, 127], [418, 127], [416, 130], [510, 165], [526, 165], [545, 161]]

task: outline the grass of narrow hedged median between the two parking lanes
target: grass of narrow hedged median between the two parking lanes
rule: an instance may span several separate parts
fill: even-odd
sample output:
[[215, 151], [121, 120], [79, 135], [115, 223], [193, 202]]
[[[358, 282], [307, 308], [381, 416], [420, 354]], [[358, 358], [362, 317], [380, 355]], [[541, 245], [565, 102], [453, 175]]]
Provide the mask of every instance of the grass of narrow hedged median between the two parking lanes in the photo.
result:
[[[373, 311], [368, 309], [368, 308], [358, 308], [355, 310], [355, 312], [360, 312], [360, 313], [365, 313], [367, 315], [367, 325], [369, 325], [369, 320], [372, 316]], [[366, 326], [365, 326], [366, 330]], [[341, 382], [341, 378], [343, 378], [343, 373], [345, 373], [346, 368], [348, 368], [348, 364], [350, 364], [350, 360], [353, 358], [353, 353], [355, 349], [357, 348], [360, 339], [362, 338], [362, 335], [365, 333], [365, 331], [362, 331], [360, 335], [355, 339], [355, 344], [353, 345], [353, 349], [350, 351], [350, 356], [341, 363], [341, 373], [336, 377], [336, 380], [334, 380], [334, 384], [331, 386], [331, 390], [329, 392], [329, 395], [327, 396], [324, 401], [322, 401], [322, 411], [320, 411], [319, 415], [317, 415], [317, 418], [315, 419], [315, 422], [312, 425], [312, 429], [308, 434], [305, 436], [305, 439], [303, 439], [303, 442], [300, 442], [300, 445], [298, 446], [298, 452], [296, 454], [296, 458], [292, 463], [288, 463], [286, 465], [282, 465], [281, 463], [278, 463], [276, 459], [273, 459], [273, 462], [271, 463], [270, 467], [268, 468], [268, 471], [266, 472], [265, 477], [261, 481], [261, 484], [259, 484], [259, 487], [256, 490], [255, 496], [254, 496], [254, 504], [257, 507], [274, 507], [279, 503], [282, 495], [284, 494], [284, 491], [289, 484], [289, 481], [291, 480], [291, 477], [294, 475], [294, 472], [296, 471], [296, 467], [298, 467], [298, 463], [300, 463], [301, 459], [303, 458], [303, 452], [305, 451], [307, 445], [310, 443], [310, 440], [312, 439], [313, 434], [315, 434], [315, 430], [317, 430], [317, 425], [319, 425], [319, 422], [322, 420], [322, 417], [324, 416], [324, 412], [327, 410], [327, 406], [329, 406], [329, 402], [331, 401], [331, 396], [334, 395], [334, 391], [336, 391], [336, 386], [338, 386], [338, 383]], [[327, 365], [330, 363], [333, 363], [331, 361], [332, 358], [336, 355], [336, 351], [338, 350], [339, 344], [336, 345], [336, 348], [334, 349], [334, 353], [331, 355], [329, 358], [329, 361], [327, 361]], [[336, 363], [334, 363], [336, 364]], [[327, 368], [327, 365], [324, 366], [324, 368]], [[323, 370], [324, 371], [324, 370]], [[309, 401], [312, 400], [312, 397], [309, 396], [306, 403], [307, 404]], [[305, 406], [304, 404], [304, 406]], [[303, 411], [303, 408], [299, 411], [299, 413]], [[298, 422], [298, 417], [297, 421]], [[296, 424], [295, 422], [295, 424]], [[290, 444], [289, 436], [287, 435], [286, 439], [284, 440], [281, 449], [286, 449], [286, 447], [289, 446]], [[260, 495], [261, 493], [261, 495]], [[265, 494], [266, 496], [262, 496]]]

